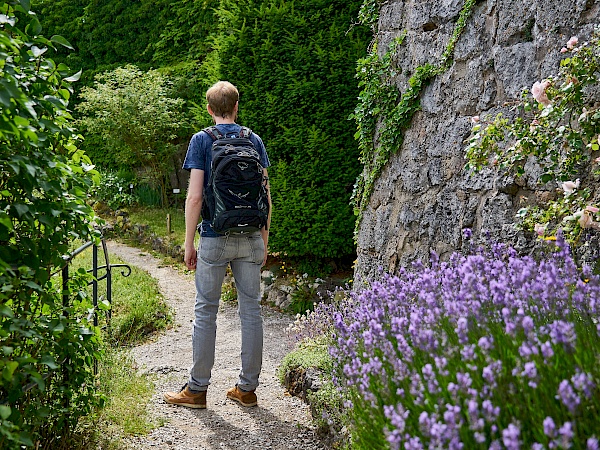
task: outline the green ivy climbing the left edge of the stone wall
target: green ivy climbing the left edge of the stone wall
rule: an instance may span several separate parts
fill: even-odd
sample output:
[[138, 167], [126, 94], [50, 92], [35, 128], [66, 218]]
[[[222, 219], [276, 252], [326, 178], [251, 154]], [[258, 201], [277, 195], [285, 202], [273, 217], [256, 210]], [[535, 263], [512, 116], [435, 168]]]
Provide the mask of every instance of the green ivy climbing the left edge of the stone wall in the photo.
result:
[[[364, 166], [352, 194], [354, 213], [357, 215], [355, 237], [375, 182], [390, 157], [401, 148], [404, 133], [410, 128], [414, 114], [420, 109], [423, 89], [437, 75], [451, 67], [454, 48], [472, 15], [475, 2], [476, 0], [465, 1], [452, 36], [437, 64], [427, 63], [414, 69], [408, 80], [408, 88], [404, 92], [399, 92], [394, 83], [401, 69], [395, 67], [393, 57], [397, 48], [403, 44], [406, 32], [394, 39], [385, 54], [380, 57], [377, 23], [382, 2], [365, 0], [363, 3], [359, 20], [371, 27], [375, 37], [367, 57], [358, 61], [357, 78], [361, 92], [359, 103], [350, 116], [356, 122], [355, 137], [360, 149], [360, 162]], [[377, 124], [379, 137], [375, 141]]]

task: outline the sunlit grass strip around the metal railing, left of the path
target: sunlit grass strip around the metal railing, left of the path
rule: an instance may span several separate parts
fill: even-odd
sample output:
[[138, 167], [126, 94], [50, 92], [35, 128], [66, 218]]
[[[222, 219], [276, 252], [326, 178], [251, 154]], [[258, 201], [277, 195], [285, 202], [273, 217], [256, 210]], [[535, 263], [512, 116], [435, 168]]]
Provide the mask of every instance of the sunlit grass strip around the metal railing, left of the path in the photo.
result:
[[[124, 264], [114, 255], [111, 264]], [[100, 251], [99, 264], [104, 264]], [[92, 249], [81, 253], [72, 262], [71, 270], [88, 270], [92, 267]], [[112, 319], [107, 324], [103, 311], [99, 311], [99, 324], [103, 326], [104, 356], [98, 361], [97, 386], [106, 398], [102, 409], [82, 420], [78, 442], [73, 449], [102, 448], [120, 450], [126, 436], [146, 434], [161, 426], [151, 419], [146, 407], [154, 394], [150, 378], [137, 373], [134, 362], [119, 347], [137, 345], [147, 341], [172, 322], [172, 313], [158, 290], [157, 281], [144, 270], [131, 267], [125, 277], [121, 268], [112, 272]], [[104, 271], [99, 276], [104, 275]], [[91, 287], [88, 295], [91, 301]], [[106, 298], [106, 281], [98, 286], [99, 302]]]

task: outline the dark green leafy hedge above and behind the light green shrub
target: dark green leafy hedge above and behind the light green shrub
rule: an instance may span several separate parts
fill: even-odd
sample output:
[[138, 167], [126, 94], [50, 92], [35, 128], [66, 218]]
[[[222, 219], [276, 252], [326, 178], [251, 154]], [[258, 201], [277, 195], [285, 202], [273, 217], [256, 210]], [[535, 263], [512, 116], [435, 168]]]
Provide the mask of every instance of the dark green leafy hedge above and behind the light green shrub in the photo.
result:
[[[217, 81], [210, 73], [218, 0], [32, 0], [40, 22], [52, 34], [67, 38], [73, 52], [58, 51], [56, 60], [83, 69], [83, 85], [94, 76], [126, 64], [147, 70], [159, 67], [174, 82], [177, 97], [202, 104], [206, 89]], [[209, 63], [205, 63], [210, 60]], [[218, 67], [218, 66], [216, 66]], [[202, 110], [204, 108], [202, 107]], [[209, 116], [202, 126], [208, 125]], [[93, 144], [95, 145], [95, 143]], [[92, 148], [90, 145], [89, 148]], [[104, 168], [102, 155], [94, 162]]]

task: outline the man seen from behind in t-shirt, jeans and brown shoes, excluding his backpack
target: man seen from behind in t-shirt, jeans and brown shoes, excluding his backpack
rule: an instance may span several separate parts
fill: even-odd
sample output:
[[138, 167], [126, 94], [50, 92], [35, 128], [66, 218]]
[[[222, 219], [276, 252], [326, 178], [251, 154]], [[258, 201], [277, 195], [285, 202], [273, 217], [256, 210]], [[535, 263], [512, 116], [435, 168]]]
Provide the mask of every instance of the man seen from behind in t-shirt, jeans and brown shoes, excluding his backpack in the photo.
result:
[[[235, 123], [239, 93], [229, 82], [219, 81], [206, 92], [208, 113], [215, 126], [225, 136], [236, 136], [242, 129]], [[227, 391], [227, 397], [243, 406], [255, 406], [255, 389], [262, 367], [263, 328], [260, 311], [260, 272], [267, 260], [267, 244], [271, 221], [271, 197], [266, 167], [269, 158], [262, 139], [252, 133], [249, 139], [259, 153], [265, 168], [268, 193], [267, 226], [247, 234], [218, 234], [209, 220], [200, 225], [200, 246], [194, 246], [195, 232], [202, 208], [203, 192], [211, 171], [213, 139], [205, 131], [196, 133], [189, 144], [183, 164], [190, 170], [185, 210], [185, 256], [188, 269], [196, 269], [196, 305], [192, 333], [193, 365], [188, 382], [180, 392], [167, 392], [167, 403], [189, 408], [206, 408], [206, 391], [210, 384], [215, 358], [216, 319], [221, 297], [221, 285], [227, 266], [235, 278], [238, 292], [238, 313], [242, 327], [242, 369], [237, 384]]]

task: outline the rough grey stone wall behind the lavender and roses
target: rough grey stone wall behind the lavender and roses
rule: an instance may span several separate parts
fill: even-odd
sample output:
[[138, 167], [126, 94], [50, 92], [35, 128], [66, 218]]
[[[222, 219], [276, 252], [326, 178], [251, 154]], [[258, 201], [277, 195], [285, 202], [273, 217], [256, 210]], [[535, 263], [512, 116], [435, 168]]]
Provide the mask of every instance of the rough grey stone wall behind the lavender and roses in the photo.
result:
[[[397, 50], [401, 91], [411, 71], [437, 63], [454, 30], [463, 0], [387, 1], [379, 21], [379, 47], [406, 32]], [[463, 246], [462, 232], [488, 231], [522, 249], [531, 234], [513, 227], [515, 212], [554, 195], [532, 175], [497, 178], [490, 170], [468, 175], [465, 139], [474, 115], [506, 112], [505, 102], [535, 81], [554, 75], [560, 48], [573, 35], [580, 42], [600, 23], [600, 0], [479, 1], [456, 46], [453, 66], [421, 96], [400, 151], [375, 185], [359, 230], [357, 277], [395, 272], [430, 250], [442, 258]], [[600, 188], [596, 186], [596, 200]]]

